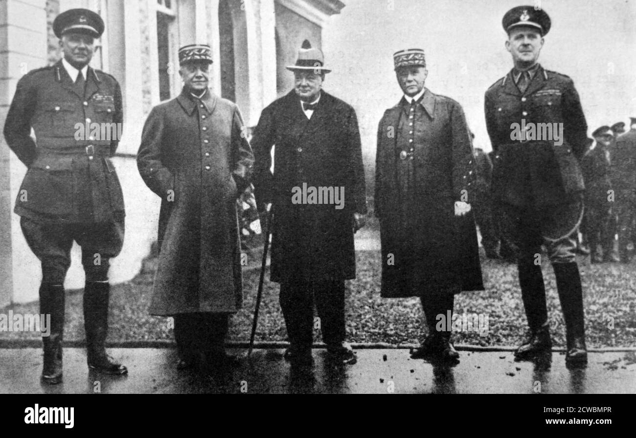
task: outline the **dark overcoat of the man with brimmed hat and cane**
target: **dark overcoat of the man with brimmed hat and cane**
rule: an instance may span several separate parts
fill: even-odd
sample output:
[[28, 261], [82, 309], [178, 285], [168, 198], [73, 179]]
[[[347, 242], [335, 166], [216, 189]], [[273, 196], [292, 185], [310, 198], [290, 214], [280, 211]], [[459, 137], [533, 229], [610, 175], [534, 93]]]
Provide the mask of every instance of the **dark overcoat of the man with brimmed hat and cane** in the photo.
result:
[[[273, 204], [272, 281], [356, 278], [353, 215], [366, 213], [357, 117], [349, 104], [321, 93], [311, 119], [294, 91], [274, 101], [251, 140], [256, 200]], [[294, 187], [343, 187], [343, 208], [294, 203]]]

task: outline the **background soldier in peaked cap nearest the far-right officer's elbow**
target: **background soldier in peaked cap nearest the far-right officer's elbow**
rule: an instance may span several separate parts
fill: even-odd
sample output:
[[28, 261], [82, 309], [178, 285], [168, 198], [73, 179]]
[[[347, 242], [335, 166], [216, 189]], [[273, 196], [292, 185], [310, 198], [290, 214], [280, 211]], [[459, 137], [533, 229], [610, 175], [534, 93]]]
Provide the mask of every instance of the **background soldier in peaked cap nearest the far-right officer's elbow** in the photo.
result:
[[[584, 235], [590, 246], [591, 263], [614, 262], [614, 233], [611, 231], [612, 183], [609, 179], [609, 147], [614, 136], [609, 126], [602, 126], [592, 133], [595, 147], [589, 149], [581, 160], [585, 180]], [[598, 252], [598, 246], [602, 254]]]

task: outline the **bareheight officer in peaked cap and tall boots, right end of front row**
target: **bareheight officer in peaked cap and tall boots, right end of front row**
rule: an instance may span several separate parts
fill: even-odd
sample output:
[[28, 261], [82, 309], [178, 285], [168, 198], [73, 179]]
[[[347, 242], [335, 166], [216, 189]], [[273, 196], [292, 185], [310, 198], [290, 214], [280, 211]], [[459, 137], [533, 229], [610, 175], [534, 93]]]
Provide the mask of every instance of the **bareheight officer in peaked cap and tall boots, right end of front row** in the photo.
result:
[[[564, 74], [537, 63], [550, 17], [518, 6], [503, 18], [514, 68], [486, 92], [488, 134], [495, 152], [492, 190], [502, 223], [518, 244], [519, 283], [529, 332], [520, 360], [551, 350], [541, 244], [548, 249], [563, 309], [569, 365], [585, 364], [583, 292], [576, 230], [583, 216], [579, 160], [588, 145], [579, 95]], [[522, 127], [521, 129], [518, 129]]]

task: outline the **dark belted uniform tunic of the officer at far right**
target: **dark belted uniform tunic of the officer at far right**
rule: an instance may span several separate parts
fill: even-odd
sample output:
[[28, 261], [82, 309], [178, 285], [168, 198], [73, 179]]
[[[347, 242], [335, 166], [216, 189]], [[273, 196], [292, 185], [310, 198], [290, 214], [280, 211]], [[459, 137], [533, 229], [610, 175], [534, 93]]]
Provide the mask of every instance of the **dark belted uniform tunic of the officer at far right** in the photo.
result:
[[[585, 186], [579, 160], [588, 146], [588, 126], [568, 76], [539, 66], [522, 93], [510, 71], [488, 88], [485, 112], [495, 152], [495, 199], [514, 206], [542, 207], [581, 196]], [[525, 143], [511, 139], [511, 125], [522, 120], [527, 125], [562, 124], [562, 145], [555, 145], [554, 139]]]

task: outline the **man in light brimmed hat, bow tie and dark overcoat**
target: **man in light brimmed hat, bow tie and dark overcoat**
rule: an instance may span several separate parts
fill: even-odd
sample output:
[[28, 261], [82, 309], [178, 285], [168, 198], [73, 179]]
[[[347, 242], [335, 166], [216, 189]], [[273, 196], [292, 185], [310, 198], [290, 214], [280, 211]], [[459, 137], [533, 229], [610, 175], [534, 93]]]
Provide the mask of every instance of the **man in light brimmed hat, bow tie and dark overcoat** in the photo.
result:
[[322, 90], [331, 70], [321, 50], [303, 46], [287, 69], [294, 90], [263, 110], [252, 137], [256, 199], [272, 202], [270, 278], [280, 283], [291, 344], [286, 358], [301, 369], [311, 365], [315, 300], [329, 358], [352, 364], [345, 280], [356, 278], [354, 231], [366, 214], [356, 112]]

